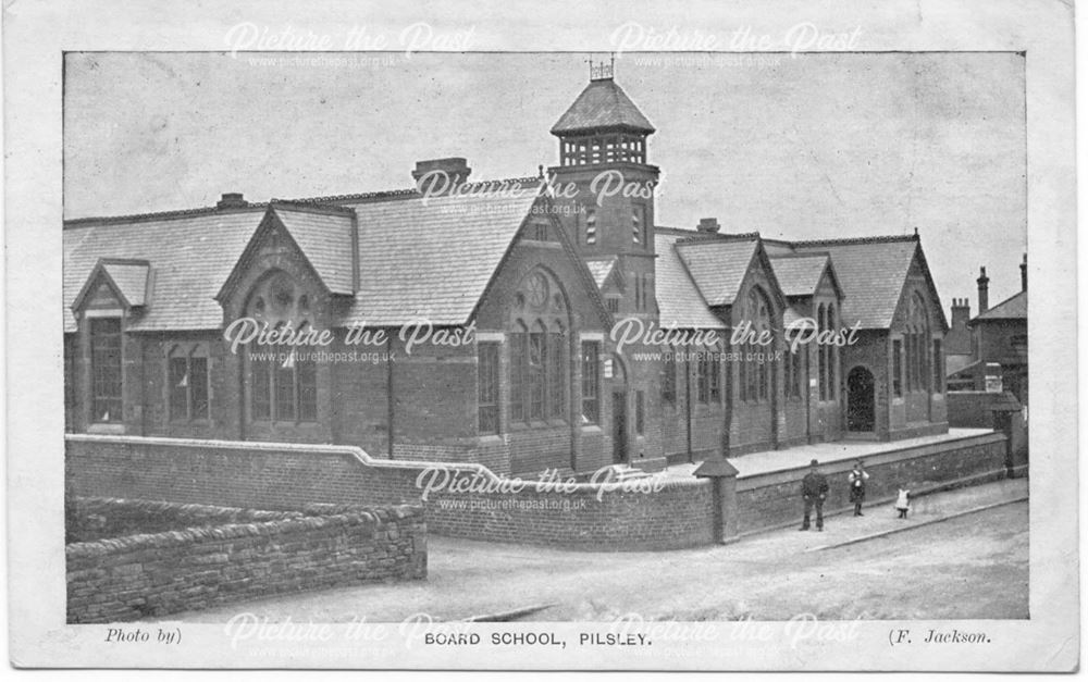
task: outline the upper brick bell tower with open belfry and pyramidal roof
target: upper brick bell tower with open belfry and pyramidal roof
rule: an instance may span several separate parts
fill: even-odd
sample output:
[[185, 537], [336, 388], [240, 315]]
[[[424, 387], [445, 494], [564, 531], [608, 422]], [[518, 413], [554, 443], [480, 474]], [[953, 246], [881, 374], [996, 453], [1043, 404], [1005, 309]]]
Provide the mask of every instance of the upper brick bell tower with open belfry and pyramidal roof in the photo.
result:
[[654, 191], [659, 171], [646, 163], [654, 126], [616, 83], [615, 60], [590, 62], [590, 83], [552, 126], [559, 165], [549, 169], [561, 220], [586, 261], [615, 261], [621, 315], [657, 318], [654, 286]]

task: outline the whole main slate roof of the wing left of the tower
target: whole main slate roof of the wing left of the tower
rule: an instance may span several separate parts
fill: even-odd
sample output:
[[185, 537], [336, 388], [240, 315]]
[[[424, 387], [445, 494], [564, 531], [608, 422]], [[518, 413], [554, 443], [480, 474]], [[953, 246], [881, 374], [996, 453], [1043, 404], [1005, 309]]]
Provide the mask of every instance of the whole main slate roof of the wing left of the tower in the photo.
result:
[[[350, 213], [335, 209], [342, 206], [354, 209], [358, 224], [359, 289], [341, 323], [398, 326], [425, 317], [435, 325], [463, 324], [529, 215], [540, 183], [523, 178], [516, 183], [520, 190], [426, 199], [397, 191], [300, 200], [324, 207], [272, 202], [244, 210], [70, 221], [64, 230], [64, 305], [71, 308], [99, 259], [138, 258], [154, 273], [153, 294], [129, 328], [218, 328], [223, 312], [215, 295], [267, 206], [326, 286], [350, 294], [351, 259], [345, 256], [351, 248]], [[76, 328], [71, 310], [64, 328]]]

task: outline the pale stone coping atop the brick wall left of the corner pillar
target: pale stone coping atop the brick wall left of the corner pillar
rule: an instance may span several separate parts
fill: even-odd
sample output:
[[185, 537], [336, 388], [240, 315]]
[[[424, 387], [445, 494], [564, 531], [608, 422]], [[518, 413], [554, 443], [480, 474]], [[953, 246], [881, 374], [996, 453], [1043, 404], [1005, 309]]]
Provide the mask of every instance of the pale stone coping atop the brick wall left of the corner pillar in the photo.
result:
[[[494, 471], [489, 469], [483, 464], [472, 463], [472, 462], [440, 462], [440, 461], [423, 461], [423, 460], [410, 460], [410, 459], [378, 459], [371, 457], [360, 447], [354, 445], [321, 445], [321, 444], [309, 444], [309, 443], [274, 443], [274, 442], [257, 442], [257, 441], [217, 441], [211, 438], [165, 438], [161, 436], [132, 436], [132, 435], [99, 435], [99, 434], [85, 434], [85, 433], [66, 433], [64, 434], [65, 442], [69, 443], [103, 443], [103, 444], [115, 444], [115, 445], [148, 445], [148, 446], [160, 446], [160, 447], [188, 447], [188, 448], [199, 448], [199, 449], [221, 449], [221, 450], [238, 450], [248, 452], [297, 452], [300, 455], [339, 455], [353, 457], [356, 461], [363, 464], [364, 467], [371, 467], [374, 469], [385, 469], [385, 470], [412, 470], [420, 471], [424, 469], [435, 469], [442, 468], [450, 470], [454, 472], [462, 472], [466, 474], [475, 474], [482, 476], [487, 483], [500, 485], [503, 482], [508, 482], [514, 479], [514, 476], [499, 476]], [[531, 479], [526, 479], [530, 485], [527, 486], [527, 492], [531, 492], [532, 481]], [[656, 483], [658, 489], [673, 488], [673, 487], [689, 487], [705, 484], [704, 481], [698, 479], [668, 479], [665, 481], [659, 481]], [[572, 493], [592, 493], [596, 494], [602, 488], [606, 492], [614, 493], [616, 491], [622, 491], [622, 486], [630, 486], [638, 488], [640, 486], [639, 481], [632, 481], [626, 484], [619, 483], [570, 483], [564, 484], [565, 491], [570, 491]]]

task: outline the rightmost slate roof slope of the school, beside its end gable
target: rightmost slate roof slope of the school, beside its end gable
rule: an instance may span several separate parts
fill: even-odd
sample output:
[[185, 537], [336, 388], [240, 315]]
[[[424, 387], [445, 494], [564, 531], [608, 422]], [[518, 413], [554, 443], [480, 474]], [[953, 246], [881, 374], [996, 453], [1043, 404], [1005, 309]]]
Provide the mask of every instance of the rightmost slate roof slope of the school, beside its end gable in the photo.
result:
[[844, 324], [882, 330], [891, 326], [918, 241], [914, 236], [829, 239], [799, 241], [794, 249], [830, 253], [842, 287]]

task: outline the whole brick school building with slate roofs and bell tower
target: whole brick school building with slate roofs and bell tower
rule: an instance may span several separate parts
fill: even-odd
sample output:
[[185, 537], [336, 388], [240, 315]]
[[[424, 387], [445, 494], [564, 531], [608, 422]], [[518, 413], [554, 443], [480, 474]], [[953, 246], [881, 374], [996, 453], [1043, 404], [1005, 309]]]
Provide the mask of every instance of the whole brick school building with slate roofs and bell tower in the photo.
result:
[[947, 431], [917, 235], [658, 225], [655, 129], [610, 72], [561, 104], [531, 177], [437, 159], [407, 189], [66, 221], [69, 431], [498, 473]]

